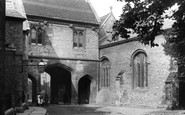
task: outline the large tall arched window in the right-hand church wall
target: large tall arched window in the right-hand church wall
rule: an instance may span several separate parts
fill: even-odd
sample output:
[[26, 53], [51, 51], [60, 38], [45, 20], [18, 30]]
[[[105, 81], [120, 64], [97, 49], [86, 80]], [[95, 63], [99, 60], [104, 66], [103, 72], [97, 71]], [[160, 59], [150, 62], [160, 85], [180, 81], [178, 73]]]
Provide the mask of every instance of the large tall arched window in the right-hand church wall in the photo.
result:
[[138, 50], [132, 57], [133, 88], [145, 88], [148, 86], [148, 63], [146, 53]]

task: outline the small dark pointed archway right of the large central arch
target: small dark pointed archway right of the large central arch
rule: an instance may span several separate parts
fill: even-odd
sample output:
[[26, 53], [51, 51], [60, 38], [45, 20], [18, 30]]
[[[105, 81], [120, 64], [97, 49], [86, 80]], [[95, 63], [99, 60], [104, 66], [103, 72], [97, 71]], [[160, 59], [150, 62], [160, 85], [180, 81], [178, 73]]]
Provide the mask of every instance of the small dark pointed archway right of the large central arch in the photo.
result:
[[91, 79], [88, 75], [80, 78], [78, 82], [78, 103], [89, 104]]

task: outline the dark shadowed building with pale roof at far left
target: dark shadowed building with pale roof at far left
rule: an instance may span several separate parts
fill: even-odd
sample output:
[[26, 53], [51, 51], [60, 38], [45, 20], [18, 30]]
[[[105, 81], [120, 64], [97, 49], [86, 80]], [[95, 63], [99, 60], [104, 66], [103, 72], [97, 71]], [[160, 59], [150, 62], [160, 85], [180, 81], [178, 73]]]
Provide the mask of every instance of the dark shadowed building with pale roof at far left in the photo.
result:
[[[21, 0], [6, 0], [5, 20], [5, 80], [4, 80], [4, 102], [5, 110], [21, 107], [25, 102], [25, 68], [24, 59], [24, 37], [23, 31], [26, 26], [24, 8]], [[2, 53], [2, 50], [0, 51]], [[2, 64], [2, 63], [1, 63]], [[2, 65], [1, 65], [2, 66]], [[1, 68], [2, 69], [2, 68]], [[3, 73], [3, 71], [1, 71]], [[3, 94], [2, 94], [3, 95]], [[2, 103], [1, 103], [2, 104]]]

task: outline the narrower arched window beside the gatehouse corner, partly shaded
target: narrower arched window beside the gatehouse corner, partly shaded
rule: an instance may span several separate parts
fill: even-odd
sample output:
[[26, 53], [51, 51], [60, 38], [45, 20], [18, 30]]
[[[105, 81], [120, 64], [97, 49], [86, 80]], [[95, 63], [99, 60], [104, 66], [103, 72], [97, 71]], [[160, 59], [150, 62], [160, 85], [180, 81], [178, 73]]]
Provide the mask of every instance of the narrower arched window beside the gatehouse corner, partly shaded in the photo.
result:
[[103, 87], [110, 86], [110, 62], [107, 58], [102, 61], [102, 74], [101, 83]]

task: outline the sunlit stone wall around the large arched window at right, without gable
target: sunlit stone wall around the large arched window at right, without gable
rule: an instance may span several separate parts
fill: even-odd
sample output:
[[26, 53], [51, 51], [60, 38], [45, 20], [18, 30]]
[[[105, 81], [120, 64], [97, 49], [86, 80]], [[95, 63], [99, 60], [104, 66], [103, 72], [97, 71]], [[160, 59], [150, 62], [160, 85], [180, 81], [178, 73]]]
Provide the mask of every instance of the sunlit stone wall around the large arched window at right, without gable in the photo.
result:
[[[100, 50], [100, 57], [106, 56], [111, 63], [111, 85], [110, 88], [101, 88], [98, 92], [97, 97], [102, 97], [103, 99], [106, 96], [107, 98], [107, 101], [97, 98], [98, 103], [106, 102], [137, 107], [161, 106], [165, 95], [165, 80], [169, 75], [170, 57], [164, 54], [161, 46], [161, 43], [165, 42], [162, 35], [157, 36], [156, 42], [159, 46], [153, 48], [138, 41], [131, 41]], [[131, 56], [138, 49], [144, 50], [147, 54], [148, 87], [144, 89], [132, 88]], [[123, 71], [123, 83], [120, 85], [119, 82], [116, 82], [116, 77], [121, 71]]]

